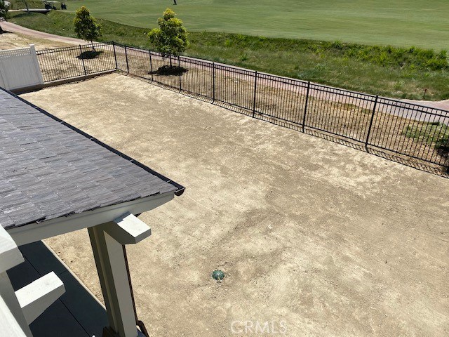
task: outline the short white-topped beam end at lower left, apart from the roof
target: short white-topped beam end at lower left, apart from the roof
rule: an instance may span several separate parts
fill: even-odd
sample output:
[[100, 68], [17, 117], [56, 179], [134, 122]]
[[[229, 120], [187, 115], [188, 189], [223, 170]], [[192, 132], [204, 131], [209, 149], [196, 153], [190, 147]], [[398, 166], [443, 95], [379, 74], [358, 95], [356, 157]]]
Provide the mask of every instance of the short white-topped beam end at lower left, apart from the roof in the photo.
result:
[[36, 281], [15, 291], [27, 324], [34, 322], [46, 308], [65, 293], [65, 287], [55, 272], [36, 279]]

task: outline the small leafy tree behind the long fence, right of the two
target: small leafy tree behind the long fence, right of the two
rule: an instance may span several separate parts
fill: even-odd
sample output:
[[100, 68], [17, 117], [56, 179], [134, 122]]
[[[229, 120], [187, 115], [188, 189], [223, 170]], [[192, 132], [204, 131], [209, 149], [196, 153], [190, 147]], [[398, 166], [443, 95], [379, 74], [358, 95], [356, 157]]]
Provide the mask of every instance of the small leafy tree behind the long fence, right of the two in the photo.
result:
[[172, 67], [171, 55], [180, 55], [189, 46], [188, 33], [182, 25], [182, 20], [175, 18], [176, 13], [170, 8], [167, 8], [162, 15], [163, 17], [157, 20], [159, 28], [152, 29], [148, 37], [157, 51], [170, 54], [170, 67]]

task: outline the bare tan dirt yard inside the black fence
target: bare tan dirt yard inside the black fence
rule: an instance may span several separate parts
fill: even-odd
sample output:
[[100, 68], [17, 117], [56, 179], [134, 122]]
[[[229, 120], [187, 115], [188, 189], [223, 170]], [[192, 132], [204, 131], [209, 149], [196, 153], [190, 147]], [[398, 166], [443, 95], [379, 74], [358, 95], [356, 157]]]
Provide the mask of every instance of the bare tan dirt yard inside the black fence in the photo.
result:
[[[120, 74], [22, 97], [187, 187], [128, 248], [152, 336], [448, 336], [448, 179]], [[87, 231], [46, 241], [100, 297]]]

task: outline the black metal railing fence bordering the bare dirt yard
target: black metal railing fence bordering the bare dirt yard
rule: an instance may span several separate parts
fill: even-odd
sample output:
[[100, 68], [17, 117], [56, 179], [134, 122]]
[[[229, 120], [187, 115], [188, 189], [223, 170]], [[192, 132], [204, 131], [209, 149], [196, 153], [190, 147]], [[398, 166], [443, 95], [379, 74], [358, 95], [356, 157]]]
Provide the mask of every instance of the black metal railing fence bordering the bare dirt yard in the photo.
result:
[[449, 169], [449, 112], [117, 44], [37, 52], [44, 81], [119, 70], [248, 116]]

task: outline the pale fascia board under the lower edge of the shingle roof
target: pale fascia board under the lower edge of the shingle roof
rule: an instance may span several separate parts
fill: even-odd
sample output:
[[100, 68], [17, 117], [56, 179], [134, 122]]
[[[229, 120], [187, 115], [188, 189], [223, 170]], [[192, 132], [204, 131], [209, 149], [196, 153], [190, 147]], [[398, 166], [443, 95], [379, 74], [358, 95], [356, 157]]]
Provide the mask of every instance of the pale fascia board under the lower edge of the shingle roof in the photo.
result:
[[112, 206], [100, 207], [93, 211], [86, 211], [71, 216], [46, 220], [42, 223], [32, 223], [29, 225], [14, 227], [7, 232], [11, 235], [15, 244], [29, 244], [48, 237], [82, 230], [83, 228], [93, 227], [102, 223], [109, 223], [119, 218], [124, 213], [140, 214], [151, 211], [175, 197], [174, 192], [156, 194], [151, 197], [145, 197], [133, 201], [123, 202]]

